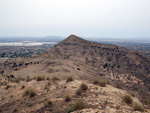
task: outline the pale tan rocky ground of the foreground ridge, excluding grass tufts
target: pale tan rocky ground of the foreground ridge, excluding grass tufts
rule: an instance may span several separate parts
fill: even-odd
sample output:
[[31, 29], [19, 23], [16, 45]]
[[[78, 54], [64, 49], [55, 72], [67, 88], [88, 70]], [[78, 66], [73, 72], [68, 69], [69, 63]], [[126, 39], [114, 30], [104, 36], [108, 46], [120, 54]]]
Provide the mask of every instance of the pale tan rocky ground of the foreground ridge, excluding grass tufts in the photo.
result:
[[[44, 78], [43, 78], [44, 79]], [[48, 80], [47, 80], [48, 79]], [[66, 78], [67, 79], [67, 78]], [[67, 113], [71, 105], [77, 101], [82, 101], [82, 110], [74, 113], [136, 113], [132, 105], [123, 101], [123, 96], [127, 91], [117, 89], [111, 85], [101, 87], [88, 80], [73, 79], [66, 82], [66, 79], [45, 78], [45, 80], [9, 82], [3, 81], [6, 85], [0, 86], [0, 112], [2, 113]], [[88, 88], [77, 94], [81, 84], [86, 84]], [[27, 89], [32, 89], [35, 95], [25, 96]], [[66, 96], [70, 100], [65, 101]], [[138, 98], [132, 97], [133, 101], [139, 101]], [[83, 104], [86, 104], [85, 106]], [[71, 112], [71, 110], [70, 110]], [[146, 113], [150, 110], [145, 106]], [[137, 112], [138, 113], [138, 112]]]

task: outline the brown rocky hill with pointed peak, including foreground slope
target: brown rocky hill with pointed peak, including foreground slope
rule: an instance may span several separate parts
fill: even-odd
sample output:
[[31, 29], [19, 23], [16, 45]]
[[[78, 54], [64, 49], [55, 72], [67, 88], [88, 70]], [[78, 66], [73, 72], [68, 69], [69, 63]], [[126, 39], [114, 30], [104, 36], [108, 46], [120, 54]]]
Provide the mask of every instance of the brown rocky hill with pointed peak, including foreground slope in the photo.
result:
[[[149, 58], [138, 51], [71, 35], [42, 55], [1, 62], [0, 110], [64, 113], [81, 99], [88, 107], [77, 112], [126, 113], [133, 112], [131, 104], [140, 99], [145, 104], [145, 112], [149, 112], [149, 67]], [[74, 79], [72, 82], [66, 82], [69, 76]], [[95, 79], [107, 83], [106, 87], [94, 85]], [[88, 90], [77, 95], [82, 83], [87, 84]], [[36, 95], [23, 96], [31, 88], [36, 90]], [[133, 103], [123, 101], [127, 93], [132, 95]], [[71, 96], [71, 101], [64, 102], [66, 95]], [[53, 106], [45, 105], [47, 98]]]

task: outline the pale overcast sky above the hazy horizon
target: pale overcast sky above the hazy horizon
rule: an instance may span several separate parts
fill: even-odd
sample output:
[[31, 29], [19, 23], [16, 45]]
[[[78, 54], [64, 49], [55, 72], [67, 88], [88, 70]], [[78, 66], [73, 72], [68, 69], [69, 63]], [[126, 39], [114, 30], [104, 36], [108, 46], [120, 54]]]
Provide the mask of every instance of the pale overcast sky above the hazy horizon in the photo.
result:
[[150, 37], [150, 0], [0, 0], [0, 36]]

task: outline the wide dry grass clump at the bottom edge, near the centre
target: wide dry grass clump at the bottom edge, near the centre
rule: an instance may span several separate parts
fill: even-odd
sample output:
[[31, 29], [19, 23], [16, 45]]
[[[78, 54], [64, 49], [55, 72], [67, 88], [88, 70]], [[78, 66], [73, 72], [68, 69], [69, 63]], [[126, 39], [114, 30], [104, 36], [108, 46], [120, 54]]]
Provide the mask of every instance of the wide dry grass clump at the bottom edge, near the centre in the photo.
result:
[[68, 113], [81, 110], [87, 107], [88, 107], [87, 104], [83, 100], [78, 100], [70, 106]]

